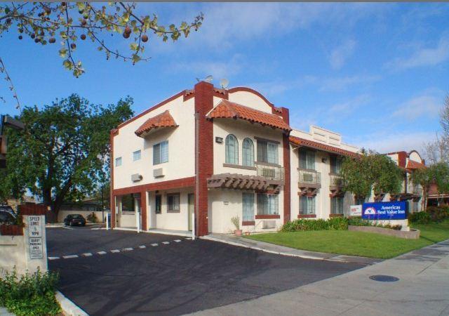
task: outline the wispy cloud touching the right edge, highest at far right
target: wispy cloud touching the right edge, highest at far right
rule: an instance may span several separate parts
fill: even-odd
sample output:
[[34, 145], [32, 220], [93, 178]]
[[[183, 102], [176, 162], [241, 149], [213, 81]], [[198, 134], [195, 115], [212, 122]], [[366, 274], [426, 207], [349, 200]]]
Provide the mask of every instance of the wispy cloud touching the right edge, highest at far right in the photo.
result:
[[419, 48], [409, 58], [396, 58], [387, 62], [386, 68], [406, 70], [415, 67], [434, 66], [449, 59], [449, 38], [441, 37], [434, 47]]

